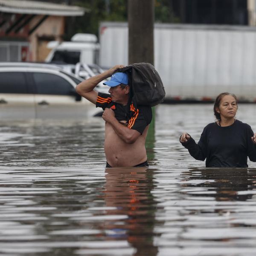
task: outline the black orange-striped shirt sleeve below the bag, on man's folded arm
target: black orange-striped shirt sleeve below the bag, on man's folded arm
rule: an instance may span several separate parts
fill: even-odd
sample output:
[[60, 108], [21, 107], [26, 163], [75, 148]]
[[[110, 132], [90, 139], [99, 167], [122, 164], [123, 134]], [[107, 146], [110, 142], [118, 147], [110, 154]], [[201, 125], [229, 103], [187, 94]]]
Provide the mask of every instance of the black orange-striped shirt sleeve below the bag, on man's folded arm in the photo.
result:
[[138, 108], [134, 109], [133, 112], [133, 116], [128, 120], [128, 128], [143, 134], [143, 131], [152, 120], [152, 110], [151, 108]]

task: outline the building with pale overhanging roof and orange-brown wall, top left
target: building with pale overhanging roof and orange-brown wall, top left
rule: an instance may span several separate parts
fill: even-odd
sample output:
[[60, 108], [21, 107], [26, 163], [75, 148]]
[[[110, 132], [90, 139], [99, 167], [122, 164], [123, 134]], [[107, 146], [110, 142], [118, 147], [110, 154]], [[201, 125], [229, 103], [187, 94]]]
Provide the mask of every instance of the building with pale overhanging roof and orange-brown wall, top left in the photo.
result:
[[0, 0], [0, 61], [44, 61], [49, 41], [61, 41], [65, 17], [82, 16], [78, 6]]

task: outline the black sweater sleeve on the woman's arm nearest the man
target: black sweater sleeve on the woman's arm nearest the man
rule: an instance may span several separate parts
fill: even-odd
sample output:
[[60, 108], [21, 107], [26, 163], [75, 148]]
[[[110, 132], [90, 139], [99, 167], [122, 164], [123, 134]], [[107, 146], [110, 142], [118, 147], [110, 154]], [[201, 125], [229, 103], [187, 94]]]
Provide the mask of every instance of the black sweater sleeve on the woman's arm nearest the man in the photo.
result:
[[198, 144], [195, 143], [191, 136], [187, 142], [181, 144], [189, 150], [189, 154], [196, 160], [204, 161], [207, 156], [206, 128], [204, 128]]

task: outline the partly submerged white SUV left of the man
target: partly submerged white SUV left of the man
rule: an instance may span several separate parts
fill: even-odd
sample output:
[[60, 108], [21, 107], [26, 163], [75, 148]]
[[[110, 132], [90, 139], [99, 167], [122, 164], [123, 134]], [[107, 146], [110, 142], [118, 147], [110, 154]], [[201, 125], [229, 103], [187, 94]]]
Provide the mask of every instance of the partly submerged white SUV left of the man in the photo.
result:
[[83, 118], [99, 110], [76, 93], [83, 79], [54, 65], [0, 63], [0, 120]]

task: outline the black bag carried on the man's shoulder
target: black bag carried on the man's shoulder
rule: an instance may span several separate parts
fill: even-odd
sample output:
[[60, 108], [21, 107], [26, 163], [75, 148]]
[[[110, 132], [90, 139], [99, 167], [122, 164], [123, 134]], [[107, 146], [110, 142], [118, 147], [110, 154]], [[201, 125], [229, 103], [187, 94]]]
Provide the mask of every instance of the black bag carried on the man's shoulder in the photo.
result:
[[129, 78], [130, 99], [140, 106], [156, 106], [163, 102], [165, 90], [163, 82], [150, 63], [134, 63], [121, 68]]

